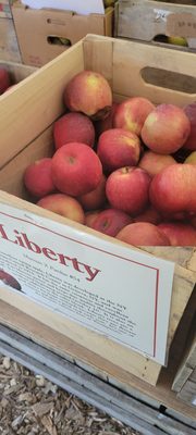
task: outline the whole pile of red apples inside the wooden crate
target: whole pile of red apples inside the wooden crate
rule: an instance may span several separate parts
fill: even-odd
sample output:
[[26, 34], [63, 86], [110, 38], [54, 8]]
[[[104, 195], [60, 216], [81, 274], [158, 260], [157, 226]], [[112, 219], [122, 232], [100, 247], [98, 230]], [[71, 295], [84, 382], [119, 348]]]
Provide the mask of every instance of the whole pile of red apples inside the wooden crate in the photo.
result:
[[63, 101], [52, 157], [24, 173], [33, 201], [133, 246], [196, 246], [196, 103], [117, 103], [93, 71]]

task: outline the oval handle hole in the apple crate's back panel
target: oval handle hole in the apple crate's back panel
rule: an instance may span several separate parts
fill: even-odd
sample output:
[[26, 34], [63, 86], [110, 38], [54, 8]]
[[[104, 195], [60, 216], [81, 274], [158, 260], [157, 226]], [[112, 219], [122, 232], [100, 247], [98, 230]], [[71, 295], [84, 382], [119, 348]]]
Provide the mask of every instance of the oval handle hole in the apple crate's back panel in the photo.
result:
[[140, 76], [148, 85], [196, 95], [196, 77], [151, 66], [145, 66]]

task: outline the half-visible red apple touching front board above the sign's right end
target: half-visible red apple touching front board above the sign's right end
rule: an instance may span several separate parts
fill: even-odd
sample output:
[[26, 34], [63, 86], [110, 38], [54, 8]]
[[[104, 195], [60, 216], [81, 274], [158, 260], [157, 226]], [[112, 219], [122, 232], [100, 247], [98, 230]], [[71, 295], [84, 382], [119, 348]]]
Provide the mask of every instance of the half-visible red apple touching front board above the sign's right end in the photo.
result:
[[136, 222], [124, 226], [117, 238], [134, 246], [170, 246], [166, 234], [148, 222]]

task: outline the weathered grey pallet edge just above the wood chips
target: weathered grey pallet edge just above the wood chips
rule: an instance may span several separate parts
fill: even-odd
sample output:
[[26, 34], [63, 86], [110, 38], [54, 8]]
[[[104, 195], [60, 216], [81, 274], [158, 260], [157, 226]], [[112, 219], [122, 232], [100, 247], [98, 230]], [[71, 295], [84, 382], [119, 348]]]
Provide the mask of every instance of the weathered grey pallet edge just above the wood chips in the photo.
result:
[[109, 382], [45, 349], [4, 326], [0, 327], [0, 352], [41, 374], [71, 394], [131, 425], [144, 435], [194, 435], [196, 421], [170, 415], [161, 403], [151, 406], [148, 398], [123, 393]]

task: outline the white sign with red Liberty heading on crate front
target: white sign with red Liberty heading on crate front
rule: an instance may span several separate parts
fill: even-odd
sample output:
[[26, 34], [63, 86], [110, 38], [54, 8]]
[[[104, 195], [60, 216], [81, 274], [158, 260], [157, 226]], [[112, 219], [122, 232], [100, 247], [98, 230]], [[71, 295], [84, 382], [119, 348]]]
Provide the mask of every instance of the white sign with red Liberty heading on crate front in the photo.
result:
[[172, 262], [0, 204], [0, 288], [8, 285], [160, 364], [173, 272]]

